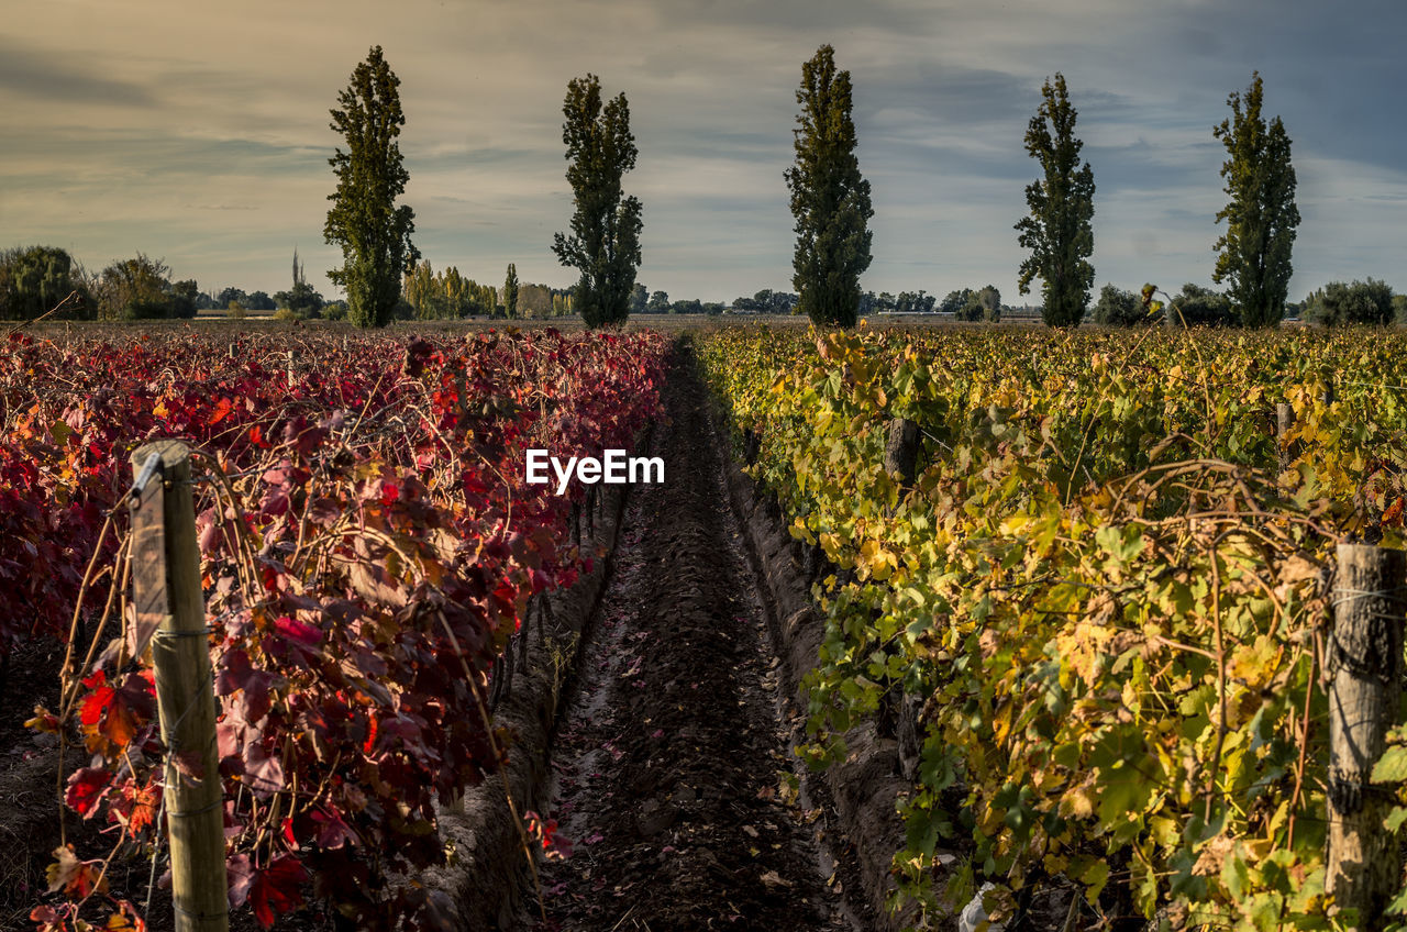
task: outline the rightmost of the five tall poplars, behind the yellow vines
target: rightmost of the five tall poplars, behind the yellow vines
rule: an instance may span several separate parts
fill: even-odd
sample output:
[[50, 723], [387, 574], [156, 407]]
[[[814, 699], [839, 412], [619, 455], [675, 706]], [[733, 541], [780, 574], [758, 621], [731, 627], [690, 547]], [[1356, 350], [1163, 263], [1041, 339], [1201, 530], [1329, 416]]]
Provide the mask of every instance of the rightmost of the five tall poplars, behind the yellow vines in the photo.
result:
[[1213, 130], [1227, 148], [1221, 177], [1231, 197], [1217, 214], [1227, 231], [1217, 239], [1211, 280], [1230, 283], [1227, 293], [1241, 307], [1247, 327], [1275, 327], [1285, 317], [1285, 294], [1294, 273], [1290, 248], [1300, 211], [1294, 206], [1290, 138], [1276, 117], [1261, 117], [1261, 73], [1251, 73], [1245, 97], [1227, 97], [1231, 118]]

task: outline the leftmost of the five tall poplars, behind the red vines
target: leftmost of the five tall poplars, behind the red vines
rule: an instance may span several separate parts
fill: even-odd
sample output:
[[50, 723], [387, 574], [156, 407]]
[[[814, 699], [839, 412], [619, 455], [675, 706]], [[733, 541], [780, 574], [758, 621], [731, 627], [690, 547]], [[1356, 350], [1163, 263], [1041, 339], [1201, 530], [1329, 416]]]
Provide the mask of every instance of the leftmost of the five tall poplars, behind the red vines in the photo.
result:
[[352, 83], [338, 94], [332, 128], [346, 138], [348, 151], [328, 159], [338, 189], [324, 239], [342, 246], [342, 267], [328, 277], [346, 289], [348, 317], [357, 327], [384, 327], [395, 314], [401, 277], [421, 258], [411, 242], [415, 211], [397, 206], [411, 175], [401, 163], [401, 79], [374, 46], [352, 72]]

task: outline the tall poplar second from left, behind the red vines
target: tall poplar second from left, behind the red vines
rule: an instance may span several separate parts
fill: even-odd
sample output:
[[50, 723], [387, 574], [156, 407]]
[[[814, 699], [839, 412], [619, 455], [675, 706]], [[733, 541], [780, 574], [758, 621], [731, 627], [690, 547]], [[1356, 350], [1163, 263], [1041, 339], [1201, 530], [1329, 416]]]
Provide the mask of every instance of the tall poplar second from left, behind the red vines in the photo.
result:
[[575, 203], [571, 237], [557, 234], [552, 251], [581, 272], [574, 304], [587, 327], [623, 324], [630, 315], [640, 266], [640, 201], [625, 197], [620, 176], [635, 168], [630, 106], [625, 93], [602, 104], [601, 79], [573, 77], [561, 104], [567, 182]]

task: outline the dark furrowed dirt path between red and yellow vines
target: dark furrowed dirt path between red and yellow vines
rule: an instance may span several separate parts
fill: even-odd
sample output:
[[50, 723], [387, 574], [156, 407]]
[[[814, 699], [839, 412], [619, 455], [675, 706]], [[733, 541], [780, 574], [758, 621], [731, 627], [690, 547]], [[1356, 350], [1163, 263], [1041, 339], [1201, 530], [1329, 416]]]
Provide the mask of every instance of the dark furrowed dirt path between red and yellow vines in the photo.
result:
[[651, 451], [666, 481], [630, 491], [556, 738], [550, 814], [574, 850], [545, 869], [549, 926], [868, 928], [846, 902], [844, 845], [837, 867], [823, 808], [795, 777], [802, 719], [781, 698], [723, 439], [687, 359], [667, 407]]

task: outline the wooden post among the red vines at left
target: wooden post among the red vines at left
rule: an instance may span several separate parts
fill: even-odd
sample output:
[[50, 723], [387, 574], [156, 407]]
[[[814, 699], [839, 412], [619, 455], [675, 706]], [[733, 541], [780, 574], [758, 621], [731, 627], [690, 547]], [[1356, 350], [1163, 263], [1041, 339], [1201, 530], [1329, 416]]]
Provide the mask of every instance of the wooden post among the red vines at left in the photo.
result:
[[159, 619], [151, 642], [167, 748], [165, 810], [174, 928], [225, 932], [224, 797], [190, 452], [179, 441], [156, 441], [132, 453], [134, 470], [141, 472], [153, 453], [160, 456], [160, 465], [155, 474], [146, 473], [148, 481], [132, 503], [132, 596], [139, 629], [144, 618]]

